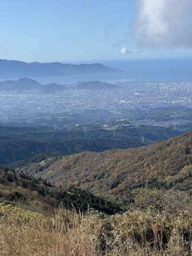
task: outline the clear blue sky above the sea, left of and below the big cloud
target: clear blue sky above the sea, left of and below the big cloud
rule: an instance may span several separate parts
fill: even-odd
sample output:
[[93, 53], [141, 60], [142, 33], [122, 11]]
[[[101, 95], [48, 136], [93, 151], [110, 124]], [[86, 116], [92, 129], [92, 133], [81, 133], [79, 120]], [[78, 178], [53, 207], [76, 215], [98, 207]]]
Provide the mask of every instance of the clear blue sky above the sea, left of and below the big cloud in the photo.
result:
[[[138, 48], [132, 39], [135, 2], [1, 0], [0, 59], [75, 62], [191, 54], [185, 47], [153, 46], [129, 54]], [[120, 54], [123, 48], [128, 54]]]

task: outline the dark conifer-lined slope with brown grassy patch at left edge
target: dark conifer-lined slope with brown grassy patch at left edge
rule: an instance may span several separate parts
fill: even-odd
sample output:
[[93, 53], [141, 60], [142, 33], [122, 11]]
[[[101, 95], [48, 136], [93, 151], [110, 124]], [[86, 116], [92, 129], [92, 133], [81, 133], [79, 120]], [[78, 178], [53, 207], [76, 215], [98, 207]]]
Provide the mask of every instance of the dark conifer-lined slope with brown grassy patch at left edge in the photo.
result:
[[68, 190], [54, 187], [47, 181], [0, 169], [0, 203], [43, 214], [51, 214], [55, 208], [86, 210], [88, 207], [112, 214], [120, 207], [74, 186]]

